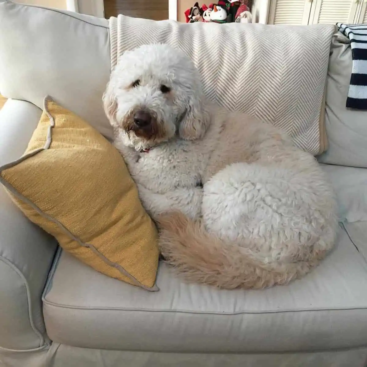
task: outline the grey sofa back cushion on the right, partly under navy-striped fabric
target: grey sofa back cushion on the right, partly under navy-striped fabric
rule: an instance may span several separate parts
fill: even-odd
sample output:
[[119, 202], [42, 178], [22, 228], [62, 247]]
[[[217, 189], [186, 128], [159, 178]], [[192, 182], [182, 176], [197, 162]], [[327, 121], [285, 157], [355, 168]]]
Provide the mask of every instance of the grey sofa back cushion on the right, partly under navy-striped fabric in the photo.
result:
[[346, 108], [352, 51], [349, 39], [340, 32], [331, 42], [326, 81], [325, 127], [328, 149], [318, 157], [321, 163], [367, 167], [367, 111]]

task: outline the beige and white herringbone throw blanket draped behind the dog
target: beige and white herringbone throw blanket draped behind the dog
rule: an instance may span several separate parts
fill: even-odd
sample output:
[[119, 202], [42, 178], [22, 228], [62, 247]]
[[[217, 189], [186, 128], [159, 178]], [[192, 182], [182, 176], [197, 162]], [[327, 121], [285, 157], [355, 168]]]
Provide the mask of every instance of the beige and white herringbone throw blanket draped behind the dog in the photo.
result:
[[[192, 58], [206, 96], [283, 128], [313, 155], [326, 149], [324, 90], [333, 25], [271, 26], [110, 18], [111, 67], [128, 49], [168, 43]], [[147, 55], [149, 57], [149, 55]]]

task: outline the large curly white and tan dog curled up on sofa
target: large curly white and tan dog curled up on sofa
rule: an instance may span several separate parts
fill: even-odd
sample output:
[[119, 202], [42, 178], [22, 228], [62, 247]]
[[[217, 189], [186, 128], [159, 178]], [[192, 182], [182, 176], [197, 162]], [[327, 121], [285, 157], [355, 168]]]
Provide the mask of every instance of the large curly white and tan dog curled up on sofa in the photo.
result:
[[187, 280], [285, 284], [333, 247], [336, 204], [315, 158], [272, 125], [207, 101], [182, 51], [124, 52], [103, 103], [161, 253]]

